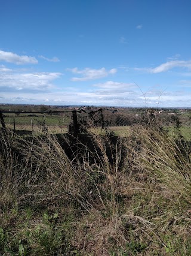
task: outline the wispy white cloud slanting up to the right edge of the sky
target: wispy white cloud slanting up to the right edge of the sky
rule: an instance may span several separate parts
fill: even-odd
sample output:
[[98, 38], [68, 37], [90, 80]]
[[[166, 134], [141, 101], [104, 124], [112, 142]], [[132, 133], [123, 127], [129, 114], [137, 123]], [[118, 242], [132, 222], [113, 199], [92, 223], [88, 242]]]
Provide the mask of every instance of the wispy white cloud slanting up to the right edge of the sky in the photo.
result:
[[190, 69], [191, 68], [191, 60], [189, 60], [189, 61], [168, 61], [168, 62], [165, 62], [165, 63], [159, 65], [156, 68], [134, 68], [134, 70], [146, 71], [147, 73], [156, 74], [156, 73], [166, 72], [166, 71], [171, 70], [172, 68], [176, 68], [176, 67]]

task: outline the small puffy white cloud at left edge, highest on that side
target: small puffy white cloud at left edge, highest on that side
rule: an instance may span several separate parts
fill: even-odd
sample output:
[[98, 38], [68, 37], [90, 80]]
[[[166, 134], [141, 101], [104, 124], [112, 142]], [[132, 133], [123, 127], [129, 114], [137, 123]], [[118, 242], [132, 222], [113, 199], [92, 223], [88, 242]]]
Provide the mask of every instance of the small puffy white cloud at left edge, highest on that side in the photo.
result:
[[17, 65], [38, 63], [38, 60], [35, 57], [17, 55], [16, 53], [4, 52], [2, 50], [0, 50], [0, 61], [14, 63]]

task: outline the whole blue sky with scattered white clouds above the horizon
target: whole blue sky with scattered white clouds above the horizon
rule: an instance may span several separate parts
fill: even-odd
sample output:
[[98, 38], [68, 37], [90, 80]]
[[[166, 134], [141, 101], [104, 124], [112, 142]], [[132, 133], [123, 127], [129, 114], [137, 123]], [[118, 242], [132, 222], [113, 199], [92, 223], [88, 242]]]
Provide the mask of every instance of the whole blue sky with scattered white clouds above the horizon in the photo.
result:
[[0, 103], [191, 107], [190, 0], [0, 3]]

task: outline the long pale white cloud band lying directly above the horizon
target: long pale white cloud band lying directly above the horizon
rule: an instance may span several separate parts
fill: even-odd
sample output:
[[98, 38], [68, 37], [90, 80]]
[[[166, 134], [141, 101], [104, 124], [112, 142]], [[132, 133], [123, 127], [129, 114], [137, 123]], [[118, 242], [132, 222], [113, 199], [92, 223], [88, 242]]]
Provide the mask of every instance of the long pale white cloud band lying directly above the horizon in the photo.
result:
[[[143, 94], [141, 94], [138, 89], [133, 88], [134, 85], [108, 81], [95, 86], [98, 88], [97, 91], [76, 91], [75, 93], [73, 93], [72, 89], [69, 90], [68, 88], [60, 91], [39, 91], [37, 94], [29, 91], [8, 91], [2, 92], [0, 101], [1, 103], [13, 102], [25, 104], [88, 104], [94, 106], [132, 107], [145, 106], [145, 98]], [[110, 90], [109, 86], [113, 86], [113, 89]], [[116, 89], [117, 87], [119, 90]], [[152, 92], [147, 92], [147, 106], [156, 107], [159, 103], [160, 107], [189, 107], [191, 104], [190, 92], [165, 92], [161, 95], [160, 99], [159, 95], [161, 95], [159, 91], [153, 90]]]

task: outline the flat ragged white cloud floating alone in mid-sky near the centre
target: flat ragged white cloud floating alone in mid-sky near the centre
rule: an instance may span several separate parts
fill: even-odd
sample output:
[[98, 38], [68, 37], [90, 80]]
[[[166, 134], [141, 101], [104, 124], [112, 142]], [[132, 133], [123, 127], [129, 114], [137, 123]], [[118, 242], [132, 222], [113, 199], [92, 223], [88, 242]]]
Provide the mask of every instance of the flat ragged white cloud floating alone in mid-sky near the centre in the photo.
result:
[[74, 74], [81, 74], [82, 77], [72, 77], [72, 81], [87, 81], [100, 79], [102, 77], [107, 77], [109, 74], [115, 74], [117, 72], [116, 68], [112, 68], [107, 71], [105, 68], [100, 68], [100, 70], [85, 68], [84, 70], [78, 70], [78, 68], [67, 68]]

